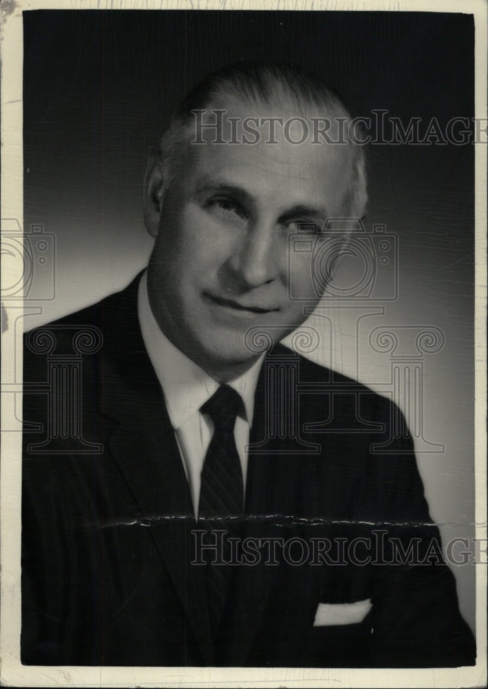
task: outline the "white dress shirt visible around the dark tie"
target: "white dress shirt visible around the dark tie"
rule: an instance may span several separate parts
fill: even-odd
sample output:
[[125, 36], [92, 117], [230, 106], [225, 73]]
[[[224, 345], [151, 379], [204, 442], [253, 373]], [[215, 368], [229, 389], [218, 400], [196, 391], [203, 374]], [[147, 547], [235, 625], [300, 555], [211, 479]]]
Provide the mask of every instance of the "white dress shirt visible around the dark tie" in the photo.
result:
[[[138, 292], [138, 315], [142, 339], [165, 397], [169, 420], [175, 431], [184, 471], [190, 486], [193, 511], [198, 517], [200, 474], [213, 435], [213, 422], [200, 407], [211, 398], [219, 383], [177, 349], [162, 333], [149, 305], [146, 273]], [[235, 446], [239, 454], [244, 491], [246, 490], [249, 431], [253, 422], [254, 395], [264, 355], [244, 373], [229, 382], [242, 398], [242, 408], [234, 426]]]

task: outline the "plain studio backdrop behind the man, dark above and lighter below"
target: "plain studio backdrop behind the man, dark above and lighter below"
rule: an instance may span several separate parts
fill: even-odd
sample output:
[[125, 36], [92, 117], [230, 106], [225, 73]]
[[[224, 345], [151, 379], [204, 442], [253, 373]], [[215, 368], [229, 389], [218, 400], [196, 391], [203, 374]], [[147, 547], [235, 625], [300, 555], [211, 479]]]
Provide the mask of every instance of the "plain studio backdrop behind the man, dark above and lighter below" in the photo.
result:
[[[39, 223], [55, 240], [29, 295], [42, 313], [25, 318], [26, 327], [121, 289], [145, 265], [149, 147], [184, 92], [211, 70], [242, 59], [294, 63], [335, 87], [353, 115], [383, 108], [405, 126], [421, 118], [421, 129], [432, 117], [442, 128], [474, 116], [467, 14], [36, 10], [23, 12], [23, 24], [24, 226]], [[424, 378], [426, 433], [445, 451], [418, 463], [444, 543], [471, 537], [474, 147], [371, 145], [368, 174], [366, 225], [385, 223], [400, 247], [399, 299], [368, 327], [445, 333], [443, 350], [425, 359]], [[42, 300], [52, 280], [55, 298]], [[332, 360], [326, 352], [317, 360], [382, 391], [388, 357], [380, 362], [366, 348], [359, 371], [357, 314], [336, 316]], [[456, 576], [472, 625], [474, 568]]]

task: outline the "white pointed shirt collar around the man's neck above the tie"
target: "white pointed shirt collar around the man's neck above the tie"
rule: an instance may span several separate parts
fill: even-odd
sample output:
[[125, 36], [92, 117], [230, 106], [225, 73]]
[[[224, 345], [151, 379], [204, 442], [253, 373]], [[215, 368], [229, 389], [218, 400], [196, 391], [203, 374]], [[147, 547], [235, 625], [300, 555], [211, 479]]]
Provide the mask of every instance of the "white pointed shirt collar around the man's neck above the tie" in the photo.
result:
[[[147, 294], [147, 274], [138, 291], [138, 315], [142, 339], [161, 384], [173, 429], [178, 429], [211, 398], [219, 383], [177, 349], [162, 333], [153, 316]], [[242, 376], [229, 382], [244, 402], [245, 418], [253, 422], [254, 395], [264, 355]]]

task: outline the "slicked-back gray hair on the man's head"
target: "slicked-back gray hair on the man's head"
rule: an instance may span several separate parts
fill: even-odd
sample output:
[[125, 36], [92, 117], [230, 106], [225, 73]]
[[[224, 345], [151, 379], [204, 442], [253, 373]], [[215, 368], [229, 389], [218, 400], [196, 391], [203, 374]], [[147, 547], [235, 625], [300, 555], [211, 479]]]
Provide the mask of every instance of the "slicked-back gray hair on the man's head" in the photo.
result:
[[[332, 88], [290, 65], [239, 63], [206, 76], [185, 97], [171, 116], [160, 142], [161, 165], [168, 185], [182, 165], [182, 147], [194, 134], [194, 110], [214, 109], [229, 101], [264, 103], [286, 108], [290, 103], [303, 113], [310, 108], [331, 118], [350, 121], [345, 105]], [[352, 141], [350, 143], [353, 143]], [[354, 159], [347, 194], [349, 212], [361, 218], [368, 201], [365, 154], [362, 145], [353, 143]]]

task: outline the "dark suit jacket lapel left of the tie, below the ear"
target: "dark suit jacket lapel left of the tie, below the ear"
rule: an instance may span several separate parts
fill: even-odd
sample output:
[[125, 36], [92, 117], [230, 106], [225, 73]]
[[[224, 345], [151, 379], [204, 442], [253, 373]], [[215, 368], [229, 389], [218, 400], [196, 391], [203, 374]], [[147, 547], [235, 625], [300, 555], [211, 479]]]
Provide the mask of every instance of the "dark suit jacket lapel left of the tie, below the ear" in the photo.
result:
[[[149, 537], [178, 592], [182, 608], [206, 664], [211, 664], [211, 635], [206, 609], [203, 568], [192, 566], [195, 527], [193, 504], [178, 444], [169, 421], [160, 384], [138, 327], [137, 287], [123, 300], [123, 323], [135, 324], [105, 338], [100, 358], [100, 406], [115, 420], [109, 450], [134, 497], [127, 517], [147, 522]], [[121, 293], [123, 296], [125, 293]], [[129, 305], [128, 305], [129, 302]], [[109, 318], [117, 316], [112, 309]], [[105, 333], [120, 333], [104, 324]]]

